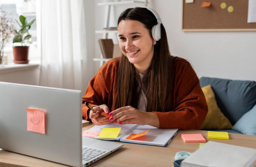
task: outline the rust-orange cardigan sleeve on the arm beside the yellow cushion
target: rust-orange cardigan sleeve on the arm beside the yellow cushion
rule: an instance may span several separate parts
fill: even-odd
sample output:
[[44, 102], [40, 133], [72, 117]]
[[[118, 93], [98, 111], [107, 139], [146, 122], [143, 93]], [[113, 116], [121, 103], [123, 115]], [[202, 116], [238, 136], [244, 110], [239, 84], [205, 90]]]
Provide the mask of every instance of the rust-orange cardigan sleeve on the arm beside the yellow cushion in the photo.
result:
[[186, 60], [177, 64], [173, 111], [155, 112], [160, 128], [199, 129], [208, 112], [205, 96], [191, 65]]

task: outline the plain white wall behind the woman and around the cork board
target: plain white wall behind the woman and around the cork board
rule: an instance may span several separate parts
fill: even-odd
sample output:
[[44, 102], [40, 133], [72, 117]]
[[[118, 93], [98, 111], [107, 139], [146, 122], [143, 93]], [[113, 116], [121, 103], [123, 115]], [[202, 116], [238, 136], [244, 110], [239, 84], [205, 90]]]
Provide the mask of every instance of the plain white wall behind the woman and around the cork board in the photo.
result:
[[[95, 4], [102, 1], [96, 0]], [[198, 77], [256, 81], [256, 32], [183, 32], [181, 0], [150, 0], [149, 7], [161, 16], [172, 55], [189, 60]], [[125, 8], [115, 8], [116, 20]], [[95, 5], [96, 30], [104, 26], [104, 14], [104, 6]], [[101, 36], [95, 36], [96, 57]]]

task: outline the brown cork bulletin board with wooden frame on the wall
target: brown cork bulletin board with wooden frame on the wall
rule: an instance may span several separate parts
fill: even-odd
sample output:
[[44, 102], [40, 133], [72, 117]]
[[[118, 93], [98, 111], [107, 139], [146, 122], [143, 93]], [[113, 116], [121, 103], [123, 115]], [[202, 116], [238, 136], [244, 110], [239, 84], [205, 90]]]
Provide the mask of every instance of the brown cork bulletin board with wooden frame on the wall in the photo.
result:
[[211, 2], [209, 7], [201, 7], [206, 0], [185, 1], [182, 31], [256, 31], [256, 23], [247, 23], [248, 0], [207, 0]]

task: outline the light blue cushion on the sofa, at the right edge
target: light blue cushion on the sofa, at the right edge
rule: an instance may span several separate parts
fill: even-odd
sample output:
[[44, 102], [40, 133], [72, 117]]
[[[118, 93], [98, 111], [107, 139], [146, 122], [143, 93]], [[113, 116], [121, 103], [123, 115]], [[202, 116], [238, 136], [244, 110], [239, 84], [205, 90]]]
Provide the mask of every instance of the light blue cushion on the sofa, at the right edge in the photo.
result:
[[248, 135], [256, 135], [256, 105], [245, 113], [232, 127], [233, 130]]

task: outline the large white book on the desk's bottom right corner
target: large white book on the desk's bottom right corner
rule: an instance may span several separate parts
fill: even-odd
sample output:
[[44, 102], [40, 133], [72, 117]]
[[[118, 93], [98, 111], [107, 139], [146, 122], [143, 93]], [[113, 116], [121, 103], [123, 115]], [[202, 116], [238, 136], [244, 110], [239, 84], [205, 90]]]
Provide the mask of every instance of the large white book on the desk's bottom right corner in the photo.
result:
[[256, 149], [209, 141], [189, 157], [181, 167], [250, 167]]

